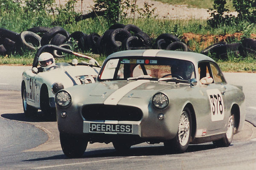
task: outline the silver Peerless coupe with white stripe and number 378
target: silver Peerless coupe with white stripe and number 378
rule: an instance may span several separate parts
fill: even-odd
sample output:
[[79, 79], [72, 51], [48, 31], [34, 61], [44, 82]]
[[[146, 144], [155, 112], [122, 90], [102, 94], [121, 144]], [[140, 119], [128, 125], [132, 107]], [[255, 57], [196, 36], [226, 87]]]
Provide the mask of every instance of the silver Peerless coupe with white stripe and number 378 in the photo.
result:
[[183, 51], [116, 52], [96, 83], [58, 91], [55, 102], [68, 157], [82, 156], [88, 142], [119, 152], [142, 142], [178, 153], [189, 144], [229, 146], [245, 119], [242, 87], [227, 84], [213, 59]]

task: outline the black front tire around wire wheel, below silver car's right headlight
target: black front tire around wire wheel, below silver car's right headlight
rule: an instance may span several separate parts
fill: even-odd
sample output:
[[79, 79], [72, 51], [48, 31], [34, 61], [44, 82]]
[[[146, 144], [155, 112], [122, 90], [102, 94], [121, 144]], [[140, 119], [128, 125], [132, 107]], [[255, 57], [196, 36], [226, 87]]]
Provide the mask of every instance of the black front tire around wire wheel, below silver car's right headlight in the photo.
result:
[[186, 144], [181, 144], [180, 140], [179, 140], [179, 132], [177, 132], [177, 135], [175, 136], [174, 139], [164, 142], [164, 147], [166, 148], [167, 152], [175, 151], [176, 153], [184, 153], [189, 146], [189, 142], [190, 142], [191, 134], [192, 134], [191, 113], [190, 113], [189, 108], [184, 108], [182, 114], [183, 113], [186, 115], [186, 117], [188, 117], [188, 120], [189, 120], [189, 138], [188, 138]]

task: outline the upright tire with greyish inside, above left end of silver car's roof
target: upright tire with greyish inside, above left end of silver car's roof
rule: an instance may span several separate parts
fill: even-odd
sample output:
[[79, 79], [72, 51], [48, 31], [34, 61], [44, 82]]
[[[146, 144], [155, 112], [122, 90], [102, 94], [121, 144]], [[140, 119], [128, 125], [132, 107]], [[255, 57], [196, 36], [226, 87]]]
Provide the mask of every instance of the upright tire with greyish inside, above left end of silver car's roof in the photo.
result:
[[123, 28], [113, 30], [109, 37], [110, 47], [113, 49], [121, 47], [122, 42], [128, 37], [131, 37], [131, 33]]

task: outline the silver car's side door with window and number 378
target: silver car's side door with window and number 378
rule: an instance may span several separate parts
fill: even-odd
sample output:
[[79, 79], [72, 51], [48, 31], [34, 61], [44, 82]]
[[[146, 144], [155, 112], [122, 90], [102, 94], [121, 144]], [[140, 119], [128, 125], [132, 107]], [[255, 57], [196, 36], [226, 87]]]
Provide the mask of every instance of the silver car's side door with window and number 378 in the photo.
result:
[[226, 81], [223, 77], [218, 65], [214, 62], [198, 63], [198, 71], [200, 80], [204, 77], [211, 77], [213, 79], [210, 84], [201, 84], [201, 91], [206, 96], [208, 102], [209, 112], [207, 114], [208, 134], [221, 133], [225, 127], [226, 122]]

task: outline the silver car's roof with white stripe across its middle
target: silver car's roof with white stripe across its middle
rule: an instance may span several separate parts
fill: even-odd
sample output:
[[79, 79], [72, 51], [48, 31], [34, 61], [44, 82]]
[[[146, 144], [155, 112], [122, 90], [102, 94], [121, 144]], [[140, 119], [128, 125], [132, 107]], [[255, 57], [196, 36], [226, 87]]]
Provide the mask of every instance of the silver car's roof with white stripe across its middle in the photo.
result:
[[200, 61], [212, 61], [215, 62], [212, 58], [195, 52], [188, 52], [188, 51], [170, 51], [170, 50], [127, 50], [127, 51], [119, 51], [109, 55], [105, 61], [111, 58], [125, 58], [130, 56], [136, 57], [166, 57], [166, 58], [174, 58], [174, 59], [183, 59], [187, 61], [191, 61], [197, 64]]

